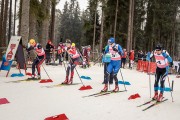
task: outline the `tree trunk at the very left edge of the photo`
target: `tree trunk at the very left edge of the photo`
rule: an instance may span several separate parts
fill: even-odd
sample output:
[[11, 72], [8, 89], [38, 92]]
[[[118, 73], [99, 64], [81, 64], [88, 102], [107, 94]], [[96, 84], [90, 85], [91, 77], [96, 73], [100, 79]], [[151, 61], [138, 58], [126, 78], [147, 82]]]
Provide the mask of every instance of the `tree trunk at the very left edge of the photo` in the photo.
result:
[[2, 41], [2, 34], [3, 34], [3, 18], [4, 18], [4, 0], [1, 1], [1, 17], [0, 17], [0, 46], [1, 46], [1, 41]]

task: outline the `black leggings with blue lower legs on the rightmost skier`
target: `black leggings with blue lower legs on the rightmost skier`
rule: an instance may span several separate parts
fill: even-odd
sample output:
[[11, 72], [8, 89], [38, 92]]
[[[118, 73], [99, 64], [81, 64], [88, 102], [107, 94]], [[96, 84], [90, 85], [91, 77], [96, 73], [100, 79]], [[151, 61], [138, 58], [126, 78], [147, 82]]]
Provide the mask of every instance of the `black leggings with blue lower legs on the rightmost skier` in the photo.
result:
[[155, 75], [155, 83], [154, 83], [154, 90], [158, 91], [158, 87], [159, 87], [159, 81], [160, 81], [160, 92], [163, 93], [164, 92], [164, 82], [166, 79], [166, 68], [156, 68], [156, 75]]

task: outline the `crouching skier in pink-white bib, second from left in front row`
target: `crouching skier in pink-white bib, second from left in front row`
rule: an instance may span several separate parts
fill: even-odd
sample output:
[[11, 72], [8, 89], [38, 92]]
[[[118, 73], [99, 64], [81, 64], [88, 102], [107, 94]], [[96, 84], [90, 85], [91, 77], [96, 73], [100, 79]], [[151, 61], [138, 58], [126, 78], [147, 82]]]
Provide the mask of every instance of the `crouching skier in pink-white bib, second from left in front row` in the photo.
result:
[[[66, 40], [66, 48], [65, 50], [67, 51], [69, 57], [70, 57], [70, 61], [66, 70], [66, 79], [62, 84], [72, 84], [73, 83], [73, 76], [74, 76], [74, 69], [76, 67], [76, 65], [79, 62], [79, 53], [76, 50], [75, 47], [75, 43], [71, 44], [71, 40]], [[69, 79], [69, 72], [71, 70], [71, 75], [70, 75], [70, 79]]]

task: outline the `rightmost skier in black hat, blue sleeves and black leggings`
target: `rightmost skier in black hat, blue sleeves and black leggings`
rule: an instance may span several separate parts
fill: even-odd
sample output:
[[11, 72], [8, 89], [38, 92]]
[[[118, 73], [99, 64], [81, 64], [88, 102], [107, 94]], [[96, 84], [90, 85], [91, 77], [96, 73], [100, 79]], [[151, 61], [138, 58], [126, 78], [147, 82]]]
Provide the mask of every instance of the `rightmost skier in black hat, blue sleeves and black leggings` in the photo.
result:
[[[157, 45], [156, 49], [153, 52], [148, 52], [147, 60], [150, 61], [151, 57], [155, 57], [156, 59], [156, 74], [155, 74], [155, 83], [154, 83], [154, 97], [153, 100], [157, 100], [158, 102], [162, 101], [163, 99], [163, 92], [164, 92], [164, 82], [166, 76], [168, 75], [169, 71], [169, 63], [172, 63], [172, 58], [169, 56], [167, 51], [162, 50], [161, 45]], [[160, 81], [160, 94], [158, 95], [158, 84]]]

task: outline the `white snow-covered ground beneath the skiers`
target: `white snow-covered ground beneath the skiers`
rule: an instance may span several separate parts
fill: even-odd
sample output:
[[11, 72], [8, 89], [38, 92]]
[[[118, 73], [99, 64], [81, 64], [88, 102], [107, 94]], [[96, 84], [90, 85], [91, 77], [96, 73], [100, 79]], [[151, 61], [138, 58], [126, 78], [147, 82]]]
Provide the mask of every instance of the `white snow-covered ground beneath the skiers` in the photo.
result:
[[[142, 111], [143, 107], [137, 106], [150, 100], [149, 77], [146, 73], [136, 70], [122, 69], [125, 81], [131, 83], [126, 86], [128, 91], [109, 94], [101, 97], [83, 96], [99, 92], [103, 85], [103, 67], [98, 65], [89, 69], [77, 67], [80, 75], [90, 76], [92, 80], [83, 80], [85, 85], [91, 85], [93, 89], [80, 91], [82, 85], [61, 86], [47, 88], [59, 84], [65, 79], [63, 66], [46, 66], [53, 83], [41, 84], [38, 81], [12, 83], [27, 78], [25, 77], [5, 77], [6, 72], [0, 72], [0, 98], [7, 98], [9, 104], [0, 105], [0, 120], [44, 120], [46, 117], [65, 113], [69, 120], [178, 120], [180, 118], [180, 79], [175, 75], [169, 75], [170, 81], [174, 80], [174, 102], [171, 101], [170, 92], [165, 92], [168, 101], [159, 104], [147, 111]], [[48, 78], [42, 70], [42, 78]], [[31, 72], [31, 69], [28, 69]], [[12, 68], [12, 73], [18, 70]], [[121, 80], [121, 75], [118, 74]], [[74, 83], [80, 83], [75, 74]], [[151, 75], [152, 95], [154, 75]], [[166, 87], [168, 81], [166, 80]], [[113, 89], [114, 85], [110, 86]], [[124, 86], [120, 85], [120, 90]], [[139, 93], [141, 98], [128, 100], [132, 94]]]

